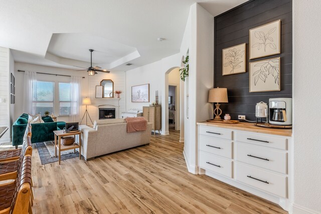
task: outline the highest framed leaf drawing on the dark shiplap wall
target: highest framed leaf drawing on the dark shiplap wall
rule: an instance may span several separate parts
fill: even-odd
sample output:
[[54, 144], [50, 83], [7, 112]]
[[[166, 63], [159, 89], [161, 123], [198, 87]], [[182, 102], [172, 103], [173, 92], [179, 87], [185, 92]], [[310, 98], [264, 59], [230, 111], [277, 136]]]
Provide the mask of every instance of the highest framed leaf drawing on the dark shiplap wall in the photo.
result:
[[281, 20], [250, 30], [250, 60], [280, 53]]

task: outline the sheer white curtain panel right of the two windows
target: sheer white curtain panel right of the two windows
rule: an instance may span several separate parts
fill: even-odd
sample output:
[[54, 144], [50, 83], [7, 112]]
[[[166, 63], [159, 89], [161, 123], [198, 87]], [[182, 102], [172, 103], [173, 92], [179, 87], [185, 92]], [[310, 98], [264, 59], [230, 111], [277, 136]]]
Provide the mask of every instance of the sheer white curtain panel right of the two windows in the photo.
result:
[[79, 120], [81, 80], [82, 77], [70, 77], [70, 122], [77, 122]]

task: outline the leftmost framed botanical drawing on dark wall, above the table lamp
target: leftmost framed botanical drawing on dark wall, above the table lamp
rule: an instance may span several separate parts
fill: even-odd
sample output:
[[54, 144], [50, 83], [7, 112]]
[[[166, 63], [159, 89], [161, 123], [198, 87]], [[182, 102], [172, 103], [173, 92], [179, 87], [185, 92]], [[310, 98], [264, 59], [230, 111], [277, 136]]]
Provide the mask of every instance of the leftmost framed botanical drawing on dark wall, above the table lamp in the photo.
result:
[[222, 50], [222, 75], [244, 73], [246, 44]]

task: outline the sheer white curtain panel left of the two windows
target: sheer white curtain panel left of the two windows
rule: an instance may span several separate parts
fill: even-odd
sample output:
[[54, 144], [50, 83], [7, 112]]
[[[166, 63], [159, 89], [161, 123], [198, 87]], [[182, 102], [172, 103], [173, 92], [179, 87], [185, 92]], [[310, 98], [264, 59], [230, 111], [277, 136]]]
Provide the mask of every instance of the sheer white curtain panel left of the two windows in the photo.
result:
[[25, 82], [24, 82], [24, 99], [23, 99], [23, 110], [27, 114], [36, 114], [36, 105], [33, 105], [32, 92], [37, 81], [37, 73], [31, 71], [25, 71]]

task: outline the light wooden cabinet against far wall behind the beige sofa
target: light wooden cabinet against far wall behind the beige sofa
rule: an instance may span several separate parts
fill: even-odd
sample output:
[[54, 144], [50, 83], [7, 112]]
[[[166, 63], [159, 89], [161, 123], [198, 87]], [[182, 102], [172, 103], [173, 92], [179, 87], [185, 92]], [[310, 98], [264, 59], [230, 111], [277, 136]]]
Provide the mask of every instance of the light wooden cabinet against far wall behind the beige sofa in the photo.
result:
[[148, 122], [152, 123], [151, 129], [154, 130], [154, 135], [156, 130], [161, 134], [159, 130], [162, 129], [162, 106], [143, 106], [142, 115]]

